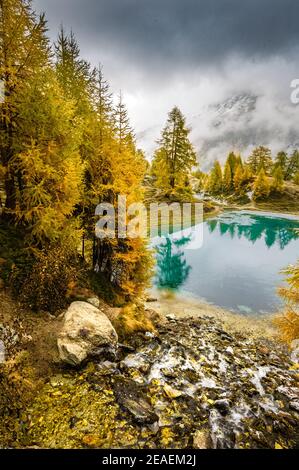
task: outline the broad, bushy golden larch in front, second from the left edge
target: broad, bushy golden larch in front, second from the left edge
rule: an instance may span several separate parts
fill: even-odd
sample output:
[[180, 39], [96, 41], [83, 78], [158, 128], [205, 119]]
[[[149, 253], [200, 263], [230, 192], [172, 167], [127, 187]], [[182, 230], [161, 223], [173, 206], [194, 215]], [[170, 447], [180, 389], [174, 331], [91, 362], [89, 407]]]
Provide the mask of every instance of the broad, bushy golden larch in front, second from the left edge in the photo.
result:
[[69, 245], [75, 237], [72, 215], [80, 202], [83, 176], [73, 102], [64, 97], [50, 68], [28, 80], [18, 100], [18, 221], [27, 232], [30, 229], [31, 245], [45, 248], [59, 240]]

